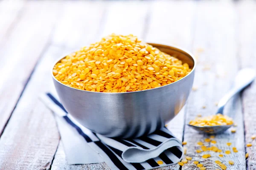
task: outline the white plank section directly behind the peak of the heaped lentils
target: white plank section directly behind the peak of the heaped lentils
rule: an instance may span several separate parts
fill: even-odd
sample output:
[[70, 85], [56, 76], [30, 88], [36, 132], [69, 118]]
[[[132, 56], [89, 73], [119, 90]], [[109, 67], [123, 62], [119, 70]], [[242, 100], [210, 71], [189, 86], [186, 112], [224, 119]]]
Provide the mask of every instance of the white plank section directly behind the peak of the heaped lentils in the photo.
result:
[[133, 34], [142, 38], [151, 2], [113, 1], [109, 3], [105, 16], [105, 27], [101, 37], [109, 34]]

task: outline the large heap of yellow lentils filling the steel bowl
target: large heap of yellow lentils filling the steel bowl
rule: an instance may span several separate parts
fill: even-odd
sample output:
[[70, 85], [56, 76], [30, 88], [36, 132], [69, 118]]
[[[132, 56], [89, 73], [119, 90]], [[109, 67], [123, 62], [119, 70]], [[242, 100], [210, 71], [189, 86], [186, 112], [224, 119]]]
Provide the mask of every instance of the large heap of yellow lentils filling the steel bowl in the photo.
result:
[[111, 34], [58, 62], [52, 72], [61, 83], [97, 92], [142, 91], [185, 77], [187, 63], [133, 35]]

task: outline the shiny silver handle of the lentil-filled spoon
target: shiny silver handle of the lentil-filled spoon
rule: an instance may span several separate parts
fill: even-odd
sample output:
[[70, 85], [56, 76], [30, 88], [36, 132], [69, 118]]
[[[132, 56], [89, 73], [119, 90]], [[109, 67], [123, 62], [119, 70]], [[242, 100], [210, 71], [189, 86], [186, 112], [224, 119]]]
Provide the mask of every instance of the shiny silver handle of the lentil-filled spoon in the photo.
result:
[[217, 113], [223, 114], [224, 106], [235, 94], [243, 90], [247, 85], [249, 85], [256, 77], [256, 72], [252, 68], [244, 68], [238, 72], [236, 75], [233, 88], [221, 98], [218, 103]]

